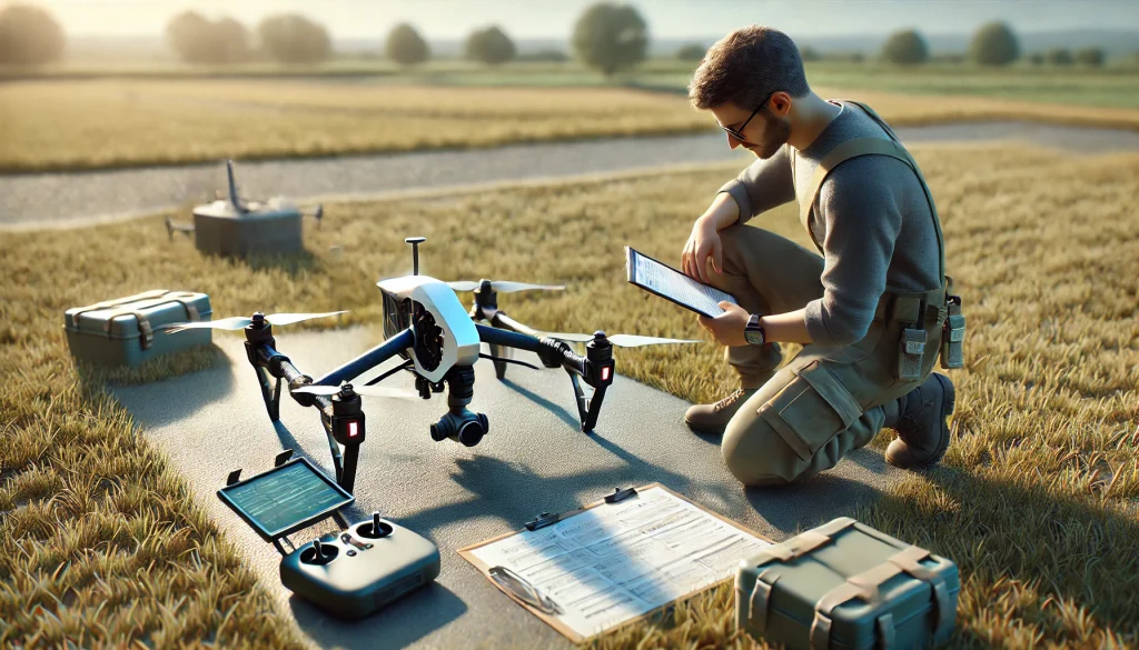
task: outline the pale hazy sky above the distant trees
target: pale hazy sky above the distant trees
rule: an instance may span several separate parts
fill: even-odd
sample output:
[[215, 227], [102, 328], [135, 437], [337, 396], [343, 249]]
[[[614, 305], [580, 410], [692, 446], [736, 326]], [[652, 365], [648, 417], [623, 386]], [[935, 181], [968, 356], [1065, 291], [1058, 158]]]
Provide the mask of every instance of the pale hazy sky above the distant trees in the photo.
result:
[[[565, 39], [595, 0], [0, 0], [49, 9], [73, 35], [161, 35], [171, 16], [194, 9], [246, 25], [279, 13], [322, 23], [334, 39], [382, 38], [408, 22], [428, 39], [461, 39], [497, 24], [516, 39]], [[1006, 20], [1019, 32], [1139, 30], [1139, 0], [634, 0], [658, 39], [719, 36], [748, 24], [796, 35], [972, 33]]]

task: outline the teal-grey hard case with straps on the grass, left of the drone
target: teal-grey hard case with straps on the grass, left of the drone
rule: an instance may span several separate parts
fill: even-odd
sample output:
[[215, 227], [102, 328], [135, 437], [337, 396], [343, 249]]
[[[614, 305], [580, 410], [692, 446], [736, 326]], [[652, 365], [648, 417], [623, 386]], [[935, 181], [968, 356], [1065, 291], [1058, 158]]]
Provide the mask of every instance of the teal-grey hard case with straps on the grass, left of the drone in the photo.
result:
[[64, 312], [64, 329], [76, 359], [137, 368], [155, 356], [208, 344], [213, 331], [208, 328], [167, 335], [162, 327], [208, 321], [212, 315], [210, 296], [205, 294], [156, 289], [69, 308]]

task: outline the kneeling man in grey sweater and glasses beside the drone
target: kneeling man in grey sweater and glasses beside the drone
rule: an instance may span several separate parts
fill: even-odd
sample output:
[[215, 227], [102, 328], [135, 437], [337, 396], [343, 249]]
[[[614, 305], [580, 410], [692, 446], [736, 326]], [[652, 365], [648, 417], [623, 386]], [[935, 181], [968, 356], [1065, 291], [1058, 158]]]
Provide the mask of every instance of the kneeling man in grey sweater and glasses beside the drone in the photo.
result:
[[[747, 485], [813, 476], [883, 427], [899, 434], [888, 462], [936, 463], [954, 393], [931, 371], [939, 355], [961, 365], [964, 318], [917, 164], [868, 107], [814, 94], [795, 43], [770, 27], [715, 43], [689, 90], [729, 145], [759, 159], [720, 189], [682, 253], [686, 274], [739, 303], [698, 320], [728, 346], [740, 388], [686, 421], [723, 434], [724, 461]], [[821, 257], [744, 225], [795, 199]], [[781, 369], [780, 343], [804, 344]]]

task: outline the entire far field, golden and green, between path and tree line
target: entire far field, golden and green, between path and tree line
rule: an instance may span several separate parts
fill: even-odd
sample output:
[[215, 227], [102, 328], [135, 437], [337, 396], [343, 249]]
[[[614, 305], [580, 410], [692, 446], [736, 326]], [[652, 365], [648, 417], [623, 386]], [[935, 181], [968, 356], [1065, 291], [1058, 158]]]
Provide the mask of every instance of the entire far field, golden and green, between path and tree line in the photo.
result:
[[[0, 173], [715, 130], [688, 106], [689, 73], [674, 63], [612, 83], [550, 64], [439, 64], [380, 76], [344, 69], [357, 68], [330, 67], [319, 80], [0, 83]], [[1139, 130], [1139, 73], [1125, 71], [819, 64], [809, 79], [823, 97], [865, 99], [896, 125], [1013, 118]]]

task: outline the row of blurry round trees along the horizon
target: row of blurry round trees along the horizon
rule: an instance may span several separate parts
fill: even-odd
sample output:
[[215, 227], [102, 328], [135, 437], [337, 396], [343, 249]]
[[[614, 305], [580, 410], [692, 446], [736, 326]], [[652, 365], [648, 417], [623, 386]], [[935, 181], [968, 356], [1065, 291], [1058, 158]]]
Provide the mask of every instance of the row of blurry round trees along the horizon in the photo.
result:
[[[227, 65], [254, 59], [281, 64], [319, 64], [333, 56], [333, 40], [323, 25], [300, 14], [281, 14], [264, 18], [251, 31], [230, 17], [210, 19], [197, 11], [185, 11], [166, 25], [167, 44], [189, 64]], [[587, 8], [571, 34], [574, 54], [585, 65], [613, 75], [631, 68], [647, 58], [648, 25], [640, 13], [629, 5], [599, 2]], [[256, 46], [254, 46], [256, 42]], [[44, 9], [33, 5], [9, 5], [0, 10], [0, 64], [42, 65], [62, 58], [66, 46], [63, 28]], [[689, 43], [680, 48], [677, 58], [699, 61], [706, 48]], [[384, 43], [387, 58], [403, 66], [431, 59], [427, 41], [409, 24], [396, 25]], [[823, 57], [810, 47], [801, 49], [803, 60]], [[497, 25], [472, 32], [464, 55], [469, 60], [501, 65], [521, 58], [514, 41]], [[931, 60], [928, 43], [918, 30], [902, 30], [890, 35], [882, 58], [898, 65], [920, 65]], [[557, 51], [530, 55], [531, 60], [566, 60]], [[862, 55], [847, 57], [862, 60]], [[973, 35], [966, 56], [983, 66], [1006, 66], [1021, 60], [1023, 54], [1016, 34], [1006, 23], [989, 23]], [[1071, 51], [1063, 48], [1033, 52], [1026, 57], [1033, 65], [1101, 66], [1104, 51], [1085, 48]]]

